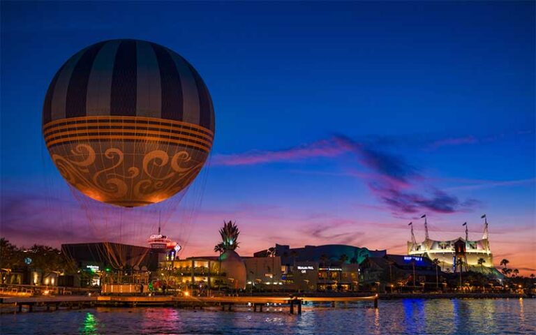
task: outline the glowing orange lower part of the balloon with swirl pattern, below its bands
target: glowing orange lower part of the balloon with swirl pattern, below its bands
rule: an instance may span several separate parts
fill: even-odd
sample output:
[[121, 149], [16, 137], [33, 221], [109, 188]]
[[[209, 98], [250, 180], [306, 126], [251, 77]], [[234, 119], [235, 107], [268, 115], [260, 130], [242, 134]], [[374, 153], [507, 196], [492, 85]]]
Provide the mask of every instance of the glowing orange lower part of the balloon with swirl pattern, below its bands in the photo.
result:
[[124, 128], [112, 135], [110, 129], [91, 132], [100, 134], [91, 139], [76, 134], [63, 137], [61, 142], [47, 141], [50, 156], [64, 179], [78, 191], [121, 207], [154, 204], [184, 190], [209, 154], [207, 144], [200, 147], [167, 134], [156, 139], [131, 139], [125, 135], [131, 131]]

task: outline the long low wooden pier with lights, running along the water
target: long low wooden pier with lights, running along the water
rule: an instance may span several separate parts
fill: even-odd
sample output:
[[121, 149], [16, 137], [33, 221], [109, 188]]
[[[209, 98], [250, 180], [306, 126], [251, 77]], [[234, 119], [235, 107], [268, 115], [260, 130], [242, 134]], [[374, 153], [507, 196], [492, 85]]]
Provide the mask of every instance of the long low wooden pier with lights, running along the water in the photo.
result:
[[265, 306], [288, 306], [290, 314], [301, 314], [304, 302], [325, 302], [336, 307], [337, 303], [348, 304], [356, 301], [373, 301], [378, 308], [378, 295], [371, 297], [172, 297], [172, 296], [55, 296], [55, 297], [0, 297], [2, 306], [14, 306], [15, 313], [22, 312], [23, 306], [28, 312], [36, 307], [46, 308], [46, 311], [57, 311], [60, 307], [87, 308], [94, 306], [174, 306], [184, 308], [204, 308], [221, 306], [222, 311], [232, 311], [233, 306], [253, 306], [253, 312], [260, 311]]

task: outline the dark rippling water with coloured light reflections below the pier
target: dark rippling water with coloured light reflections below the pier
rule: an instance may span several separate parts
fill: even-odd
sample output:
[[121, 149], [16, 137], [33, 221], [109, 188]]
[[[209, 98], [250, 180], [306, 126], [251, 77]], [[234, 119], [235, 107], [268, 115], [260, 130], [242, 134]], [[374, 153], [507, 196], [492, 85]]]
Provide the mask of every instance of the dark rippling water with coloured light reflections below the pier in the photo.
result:
[[1, 315], [0, 334], [536, 334], [536, 299], [380, 300], [377, 310], [309, 305], [302, 315], [91, 308]]

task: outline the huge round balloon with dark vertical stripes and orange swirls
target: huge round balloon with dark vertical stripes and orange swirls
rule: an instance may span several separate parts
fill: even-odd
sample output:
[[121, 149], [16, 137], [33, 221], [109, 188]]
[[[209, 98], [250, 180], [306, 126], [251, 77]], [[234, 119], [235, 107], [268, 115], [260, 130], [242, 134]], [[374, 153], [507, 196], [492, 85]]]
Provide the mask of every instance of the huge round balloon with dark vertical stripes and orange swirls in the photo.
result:
[[214, 108], [198, 72], [176, 52], [106, 40], [74, 54], [52, 79], [43, 136], [71, 186], [139, 207], [195, 179], [214, 140]]

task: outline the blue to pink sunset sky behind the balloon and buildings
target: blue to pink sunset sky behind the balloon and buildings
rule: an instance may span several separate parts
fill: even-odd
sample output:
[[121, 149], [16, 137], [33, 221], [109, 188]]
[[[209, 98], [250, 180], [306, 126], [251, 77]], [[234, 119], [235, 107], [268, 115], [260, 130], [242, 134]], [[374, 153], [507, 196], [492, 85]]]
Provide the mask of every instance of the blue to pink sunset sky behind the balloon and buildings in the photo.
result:
[[[466, 221], [479, 239], [485, 213], [496, 265], [535, 272], [534, 13], [533, 1], [2, 3], [1, 236], [59, 246], [114, 230], [144, 244], [168, 209], [181, 256], [215, 255], [223, 220], [237, 221], [241, 255], [405, 253], [410, 221], [424, 239], [422, 214], [433, 239]], [[170, 47], [211, 92], [211, 160], [181, 203], [88, 204], [47, 154], [54, 73], [112, 38]]]

